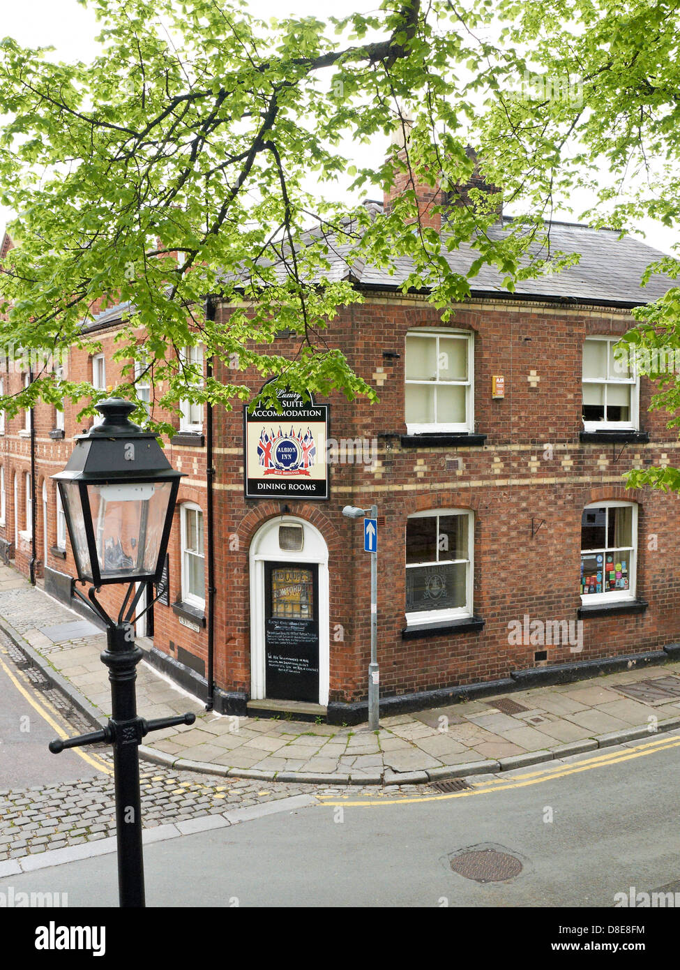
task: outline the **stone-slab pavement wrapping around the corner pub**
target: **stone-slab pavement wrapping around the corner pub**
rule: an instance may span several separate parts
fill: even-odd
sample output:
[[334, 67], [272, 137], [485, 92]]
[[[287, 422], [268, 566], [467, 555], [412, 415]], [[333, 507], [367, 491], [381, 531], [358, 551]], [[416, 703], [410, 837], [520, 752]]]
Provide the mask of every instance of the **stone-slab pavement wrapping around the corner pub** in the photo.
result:
[[[0, 566], [0, 617], [16, 642], [49, 664], [66, 690], [92, 705], [99, 720], [111, 710], [104, 633]], [[165, 767], [188, 766], [257, 784], [400, 785], [517, 762], [568, 757], [680, 727], [680, 663], [629, 668], [590, 680], [534, 687], [511, 695], [383, 716], [380, 729], [335, 727], [280, 719], [220, 717], [178, 690], [146, 663], [138, 666], [138, 709], [145, 718], [193, 711], [196, 723], [154, 731], [145, 756]], [[319, 719], [320, 720], [320, 719]], [[470, 767], [472, 770], [470, 770]]]

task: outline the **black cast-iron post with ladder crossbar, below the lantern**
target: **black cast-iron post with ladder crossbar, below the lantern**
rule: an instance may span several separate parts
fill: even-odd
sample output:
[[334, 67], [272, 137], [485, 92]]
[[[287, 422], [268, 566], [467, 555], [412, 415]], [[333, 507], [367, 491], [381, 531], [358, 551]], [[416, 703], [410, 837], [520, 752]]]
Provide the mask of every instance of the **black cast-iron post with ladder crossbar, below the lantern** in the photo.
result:
[[196, 715], [190, 713], [155, 721], [145, 721], [139, 717], [135, 667], [144, 655], [135, 645], [133, 630], [131, 623], [114, 624], [109, 620], [107, 625], [107, 649], [102, 653], [102, 661], [109, 667], [111, 681], [112, 717], [107, 727], [91, 734], [49, 743], [49, 750], [54, 755], [65, 748], [79, 748], [100, 741], [113, 744], [118, 896], [121, 907], [145, 906], [139, 756], [142, 738], [150, 730], [191, 725], [196, 720]]

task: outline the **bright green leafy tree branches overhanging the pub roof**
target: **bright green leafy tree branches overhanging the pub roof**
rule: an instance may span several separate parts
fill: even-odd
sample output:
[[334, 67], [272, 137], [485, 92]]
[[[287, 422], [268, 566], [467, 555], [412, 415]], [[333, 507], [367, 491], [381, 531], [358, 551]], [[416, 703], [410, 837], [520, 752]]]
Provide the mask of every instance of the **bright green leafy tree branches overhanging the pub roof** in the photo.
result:
[[[52, 350], [81, 343], [102, 300], [129, 305], [117, 355], [165, 382], [164, 407], [247, 400], [240, 371], [253, 367], [297, 390], [374, 400], [326, 340], [337, 307], [361, 300], [332, 270], [332, 249], [348, 268], [409, 257], [405, 288], [428, 289], [445, 317], [484, 263], [510, 290], [559, 271], [568, 259], [544, 220], [579, 189], [594, 203], [576, 214], [594, 225], [677, 225], [677, 0], [383, 0], [371, 15], [269, 23], [238, 0], [81, 2], [101, 19], [91, 60], [0, 45], [0, 199], [16, 212], [0, 331]], [[387, 144], [395, 126], [408, 128], [405, 154], [393, 146], [357, 169], [348, 140]], [[375, 219], [358, 205], [400, 171], [411, 189], [464, 182], [469, 144], [515, 213], [502, 235], [482, 195], [455, 207], [441, 235], [420, 225], [412, 191]], [[340, 190], [355, 201], [334, 201]], [[463, 241], [478, 250], [467, 276], [444, 258]], [[226, 324], [206, 314], [216, 293], [234, 307]], [[631, 342], [680, 345], [679, 300], [671, 290], [636, 310]], [[284, 328], [303, 338], [294, 360], [269, 352]], [[177, 354], [196, 339], [233, 383], [196, 384]], [[11, 411], [91, 391], [36, 376]], [[117, 390], [135, 397], [131, 366]], [[658, 404], [680, 404], [675, 375]]]

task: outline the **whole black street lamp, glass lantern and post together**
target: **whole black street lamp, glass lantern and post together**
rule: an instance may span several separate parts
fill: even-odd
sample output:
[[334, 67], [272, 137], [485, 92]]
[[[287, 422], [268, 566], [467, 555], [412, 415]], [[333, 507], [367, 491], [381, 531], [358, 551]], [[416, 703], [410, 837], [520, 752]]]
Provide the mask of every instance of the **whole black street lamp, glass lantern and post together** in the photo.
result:
[[[109, 668], [112, 717], [104, 730], [51, 741], [49, 750], [58, 754], [98, 741], [113, 744], [118, 893], [123, 907], [145, 905], [139, 745], [150, 730], [196, 720], [194, 714], [184, 714], [145, 721], [137, 714], [135, 667], [143, 654], [135, 645], [132, 621], [146, 584], [160, 581], [182, 475], [170, 466], [155, 436], [129, 420], [134, 407], [119, 398], [97, 404], [103, 422], [77, 436], [66, 468], [52, 475], [61, 494], [78, 578], [89, 585], [87, 598], [76, 586], [74, 593], [107, 628], [107, 649], [101, 658]], [[113, 619], [95, 594], [116, 583], [126, 583], [128, 589]]]

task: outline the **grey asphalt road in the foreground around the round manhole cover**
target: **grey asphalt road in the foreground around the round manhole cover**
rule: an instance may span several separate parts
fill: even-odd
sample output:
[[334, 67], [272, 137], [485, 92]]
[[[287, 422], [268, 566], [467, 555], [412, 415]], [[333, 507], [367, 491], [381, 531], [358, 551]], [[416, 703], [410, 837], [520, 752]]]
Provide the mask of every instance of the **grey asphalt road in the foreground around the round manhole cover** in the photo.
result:
[[[353, 805], [348, 792], [178, 837], [146, 847], [147, 905], [613, 907], [617, 892], [680, 879], [679, 760], [680, 736], [664, 735], [477, 780], [471, 793]], [[452, 871], [451, 857], [472, 847], [521, 871], [486, 884]], [[70, 907], [115, 906], [115, 857], [0, 880], [10, 885], [67, 892]]]

